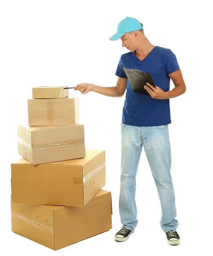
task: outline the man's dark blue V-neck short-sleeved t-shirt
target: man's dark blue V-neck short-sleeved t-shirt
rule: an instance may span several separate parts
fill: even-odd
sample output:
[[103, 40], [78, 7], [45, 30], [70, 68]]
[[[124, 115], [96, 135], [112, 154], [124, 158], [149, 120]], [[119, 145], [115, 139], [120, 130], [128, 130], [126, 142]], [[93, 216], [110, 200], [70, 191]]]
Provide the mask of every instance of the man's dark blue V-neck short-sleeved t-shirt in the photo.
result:
[[[137, 58], [135, 51], [123, 54], [115, 74], [127, 78], [122, 67], [150, 73], [154, 84], [165, 92], [170, 90], [168, 74], [180, 69], [176, 55], [170, 49], [159, 46], [155, 46], [142, 61]], [[169, 99], [153, 99], [148, 95], [134, 93], [128, 80], [122, 123], [135, 126], [171, 123]]]

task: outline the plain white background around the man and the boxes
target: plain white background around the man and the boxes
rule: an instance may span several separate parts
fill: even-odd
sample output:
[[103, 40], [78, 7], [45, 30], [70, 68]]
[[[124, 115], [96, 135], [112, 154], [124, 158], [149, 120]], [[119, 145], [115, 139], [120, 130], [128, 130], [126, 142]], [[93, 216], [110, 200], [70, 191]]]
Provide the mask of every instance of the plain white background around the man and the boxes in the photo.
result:
[[[0, 3], [1, 244], [21, 255], [191, 255], [212, 251], [212, 20], [208, 1], [2, 0]], [[127, 52], [108, 38], [126, 16], [143, 23], [153, 45], [170, 48], [187, 91], [170, 99], [171, 174], [179, 221], [179, 246], [161, 230], [161, 207], [143, 149], [136, 189], [138, 226], [123, 242], [114, 241], [119, 217], [120, 123], [125, 95], [80, 96], [80, 123], [86, 148], [105, 149], [106, 186], [113, 203], [113, 228], [56, 252], [11, 232], [10, 164], [17, 154], [18, 122], [27, 123], [27, 99], [34, 86], [75, 86], [88, 82], [115, 86], [116, 67]], [[172, 81], [170, 89], [174, 87]], [[205, 255], [210, 255], [206, 253]]]

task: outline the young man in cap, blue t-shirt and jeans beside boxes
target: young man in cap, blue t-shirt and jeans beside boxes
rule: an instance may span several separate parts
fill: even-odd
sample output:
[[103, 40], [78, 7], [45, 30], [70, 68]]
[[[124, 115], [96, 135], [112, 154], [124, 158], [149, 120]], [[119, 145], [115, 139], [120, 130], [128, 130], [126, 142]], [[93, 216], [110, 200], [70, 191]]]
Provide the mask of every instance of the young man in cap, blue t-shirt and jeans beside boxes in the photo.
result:
[[[121, 97], [126, 91], [121, 123], [121, 184], [119, 213], [122, 228], [116, 241], [125, 241], [134, 232], [137, 220], [135, 202], [136, 173], [144, 146], [151, 172], [156, 183], [162, 208], [160, 225], [169, 244], [179, 244], [176, 232], [175, 194], [170, 174], [171, 150], [168, 124], [169, 99], [185, 93], [186, 87], [176, 56], [170, 49], [152, 45], [145, 37], [142, 23], [132, 17], [121, 20], [110, 40], [122, 40], [122, 47], [130, 52], [121, 56], [116, 70], [115, 87], [78, 84], [75, 90], [85, 94], [94, 91], [105, 96]], [[145, 84], [151, 96], [133, 92], [123, 67], [151, 73], [156, 85]], [[170, 90], [170, 79], [175, 87]], [[149, 87], [147, 86], [149, 85]], [[150, 88], [151, 87], [151, 88]]]

